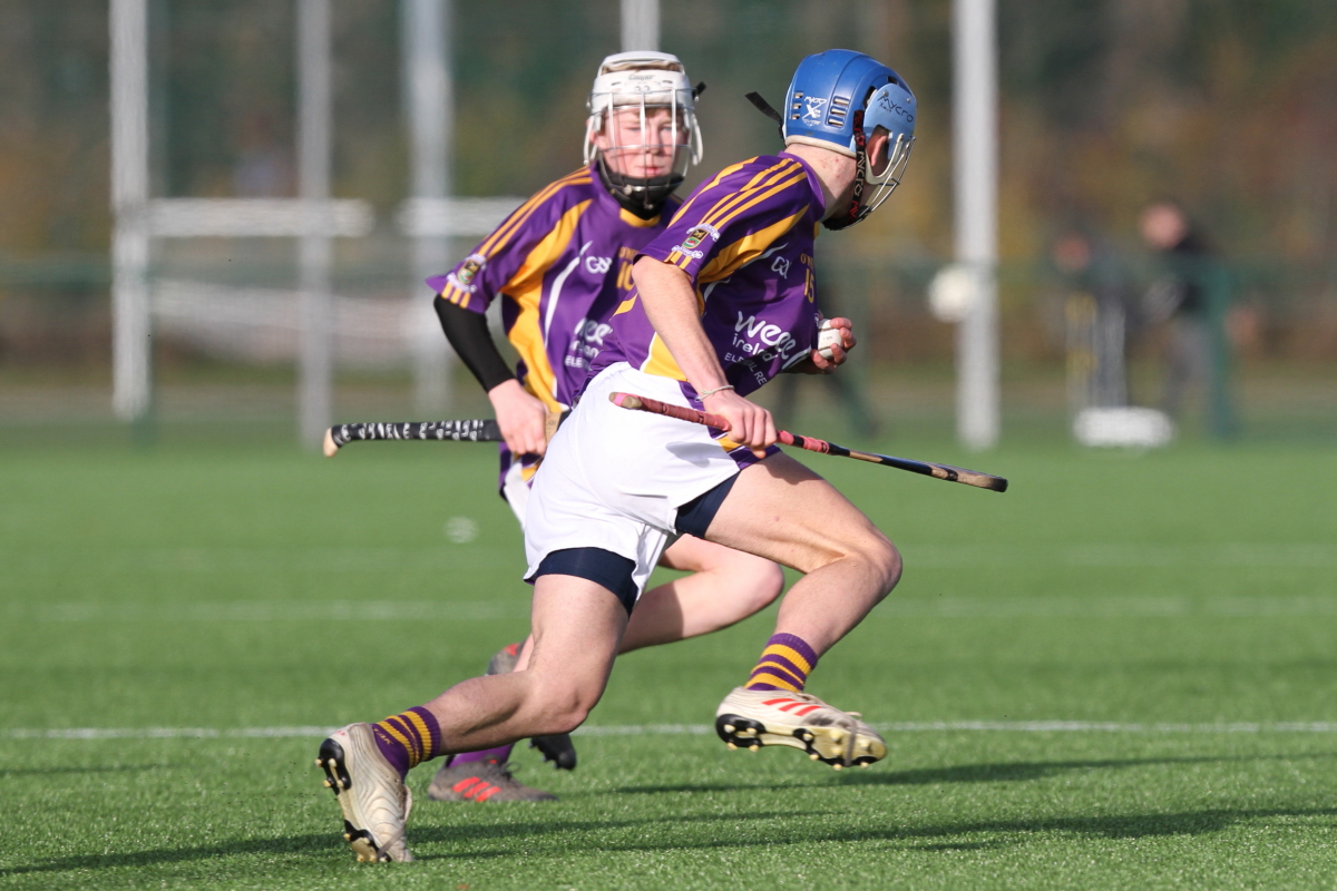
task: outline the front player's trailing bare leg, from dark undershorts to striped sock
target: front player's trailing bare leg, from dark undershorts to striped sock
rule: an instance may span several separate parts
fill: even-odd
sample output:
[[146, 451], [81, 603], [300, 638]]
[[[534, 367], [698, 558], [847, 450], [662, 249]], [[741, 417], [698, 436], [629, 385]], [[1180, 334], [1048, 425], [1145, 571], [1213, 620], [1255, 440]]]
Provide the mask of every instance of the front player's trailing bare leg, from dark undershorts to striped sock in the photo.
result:
[[603, 696], [627, 612], [608, 589], [574, 576], [533, 586], [527, 671], [471, 677], [427, 704], [448, 752], [566, 733]]

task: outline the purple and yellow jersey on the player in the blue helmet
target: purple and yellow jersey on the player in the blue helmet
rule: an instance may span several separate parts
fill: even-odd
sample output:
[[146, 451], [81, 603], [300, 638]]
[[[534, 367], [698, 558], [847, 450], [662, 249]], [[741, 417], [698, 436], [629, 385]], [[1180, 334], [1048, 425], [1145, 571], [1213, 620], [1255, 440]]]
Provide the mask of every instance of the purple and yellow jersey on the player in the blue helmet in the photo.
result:
[[[806, 359], [821, 314], [813, 242], [825, 214], [817, 175], [790, 155], [763, 155], [702, 183], [640, 250], [691, 277], [701, 326], [739, 394]], [[655, 334], [635, 289], [610, 322], [612, 334], [592, 373], [628, 362], [697, 391]]]

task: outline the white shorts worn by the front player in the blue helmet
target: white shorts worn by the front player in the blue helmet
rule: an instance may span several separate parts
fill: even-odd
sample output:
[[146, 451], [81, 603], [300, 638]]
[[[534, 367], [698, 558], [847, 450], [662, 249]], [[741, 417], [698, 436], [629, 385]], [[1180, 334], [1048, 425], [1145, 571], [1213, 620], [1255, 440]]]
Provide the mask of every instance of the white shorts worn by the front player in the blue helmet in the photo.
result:
[[616, 391], [690, 406], [678, 381], [626, 362], [590, 382], [533, 477], [524, 521], [527, 578], [556, 550], [599, 548], [635, 564], [639, 594], [677, 537], [678, 508], [755, 461], [746, 449], [726, 452], [699, 423], [619, 409], [608, 401]]

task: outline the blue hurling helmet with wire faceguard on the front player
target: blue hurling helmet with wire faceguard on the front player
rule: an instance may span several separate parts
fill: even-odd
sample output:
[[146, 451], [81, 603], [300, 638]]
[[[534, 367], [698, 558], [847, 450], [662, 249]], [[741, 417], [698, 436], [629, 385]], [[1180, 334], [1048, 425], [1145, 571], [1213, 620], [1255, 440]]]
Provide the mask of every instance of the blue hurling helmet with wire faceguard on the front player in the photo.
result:
[[[828, 228], [853, 226], [900, 184], [915, 144], [916, 103], [901, 76], [882, 63], [852, 49], [808, 56], [794, 71], [782, 108], [786, 146], [818, 146], [858, 163], [849, 214], [826, 220]], [[888, 132], [886, 148], [869, 158], [865, 147], [878, 127]], [[874, 187], [872, 195], [868, 187]]]

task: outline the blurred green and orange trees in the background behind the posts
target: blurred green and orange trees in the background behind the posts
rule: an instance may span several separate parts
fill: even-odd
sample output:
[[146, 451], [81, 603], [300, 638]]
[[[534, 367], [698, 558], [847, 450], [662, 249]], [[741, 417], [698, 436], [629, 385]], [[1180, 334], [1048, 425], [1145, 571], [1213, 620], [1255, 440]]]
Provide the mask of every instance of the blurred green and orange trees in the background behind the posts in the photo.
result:
[[[619, 48], [618, 5], [456, 0], [460, 194], [528, 194], [580, 163], [590, 77]], [[290, 194], [293, 3], [150, 9], [155, 192]], [[919, 144], [889, 208], [825, 242], [868, 270], [838, 286], [889, 301], [889, 263], [920, 270], [949, 255], [951, 0], [663, 0], [662, 11], [663, 48], [710, 85], [706, 160], [689, 187], [778, 150], [745, 92], [778, 103], [805, 53], [862, 49], [913, 85]], [[398, 4], [333, 0], [333, 12], [334, 192], [385, 215], [408, 186]], [[1138, 210], [1162, 196], [1231, 258], [1318, 269], [1337, 251], [1333, 0], [999, 0], [999, 33], [1005, 263], [1042, 256], [1072, 224], [1130, 244]], [[106, 4], [0, 4], [0, 254], [104, 255]], [[1032, 303], [1005, 285], [1005, 317]], [[1043, 353], [1017, 327], [1008, 349]], [[906, 349], [935, 354], [949, 342], [912, 339]]]

